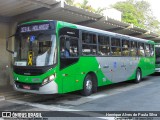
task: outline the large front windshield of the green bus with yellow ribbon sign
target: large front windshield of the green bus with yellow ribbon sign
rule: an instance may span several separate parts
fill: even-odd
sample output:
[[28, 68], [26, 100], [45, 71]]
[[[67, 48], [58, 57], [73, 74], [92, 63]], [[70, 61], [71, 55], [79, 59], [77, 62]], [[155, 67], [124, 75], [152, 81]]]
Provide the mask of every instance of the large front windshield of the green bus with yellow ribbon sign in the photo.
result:
[[15, 36], [15, 66], [49, 66], [56, 63], [56, 36], [29, 33]]

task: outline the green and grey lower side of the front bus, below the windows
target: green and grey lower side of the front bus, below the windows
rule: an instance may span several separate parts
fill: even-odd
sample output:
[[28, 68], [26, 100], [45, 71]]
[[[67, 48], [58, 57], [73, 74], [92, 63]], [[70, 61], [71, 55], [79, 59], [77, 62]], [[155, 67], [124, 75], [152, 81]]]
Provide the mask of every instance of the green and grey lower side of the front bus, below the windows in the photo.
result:
[[85, 76], [89, 72], [97, 76], [98, 86], [135, 79], [138, 67], [142, 76], [147, 76], [154, 72], [153, 61], [154, 58], [140, 57], [80, 57], [77, 63], [61, 70], [62, 93], [83, 89]]

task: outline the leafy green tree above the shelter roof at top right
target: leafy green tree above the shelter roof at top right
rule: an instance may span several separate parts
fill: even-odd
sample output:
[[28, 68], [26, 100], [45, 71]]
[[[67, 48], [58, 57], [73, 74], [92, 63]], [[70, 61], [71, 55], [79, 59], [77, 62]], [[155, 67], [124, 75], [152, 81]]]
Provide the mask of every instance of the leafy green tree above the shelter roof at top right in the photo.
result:
[[153, 16], [147, 1], [127, 0], [117, 2], [112, 7], [122, 12], [122, 21], [154, 32], [159, 31], [160, 22]]

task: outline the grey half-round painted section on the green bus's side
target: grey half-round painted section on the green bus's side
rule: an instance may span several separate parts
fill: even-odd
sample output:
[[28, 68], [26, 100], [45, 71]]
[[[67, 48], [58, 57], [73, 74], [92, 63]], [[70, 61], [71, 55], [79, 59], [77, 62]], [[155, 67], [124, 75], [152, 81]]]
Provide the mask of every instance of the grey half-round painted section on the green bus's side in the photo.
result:
[[112, 83], [128, 80], [136, 70], [139, 59], [137, 57], [97, 57], [101, 70]]

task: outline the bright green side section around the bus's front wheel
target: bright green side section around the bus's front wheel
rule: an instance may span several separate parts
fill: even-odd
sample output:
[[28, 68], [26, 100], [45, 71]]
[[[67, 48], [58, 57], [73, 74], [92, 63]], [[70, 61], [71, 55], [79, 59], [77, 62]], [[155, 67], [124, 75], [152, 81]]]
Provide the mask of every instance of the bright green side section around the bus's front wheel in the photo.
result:
[[[97, 76], [98, 86], [111, 84], [112, 82], [104, 76], [96, 57], [80, 57], [75, 64], [62, 69], [58, 79], [62, 80], [62, 93], [72, 92], [83, 89], [85, 76], [93, 72]], [[105, 78], [105, 79], [104, 79]]]

